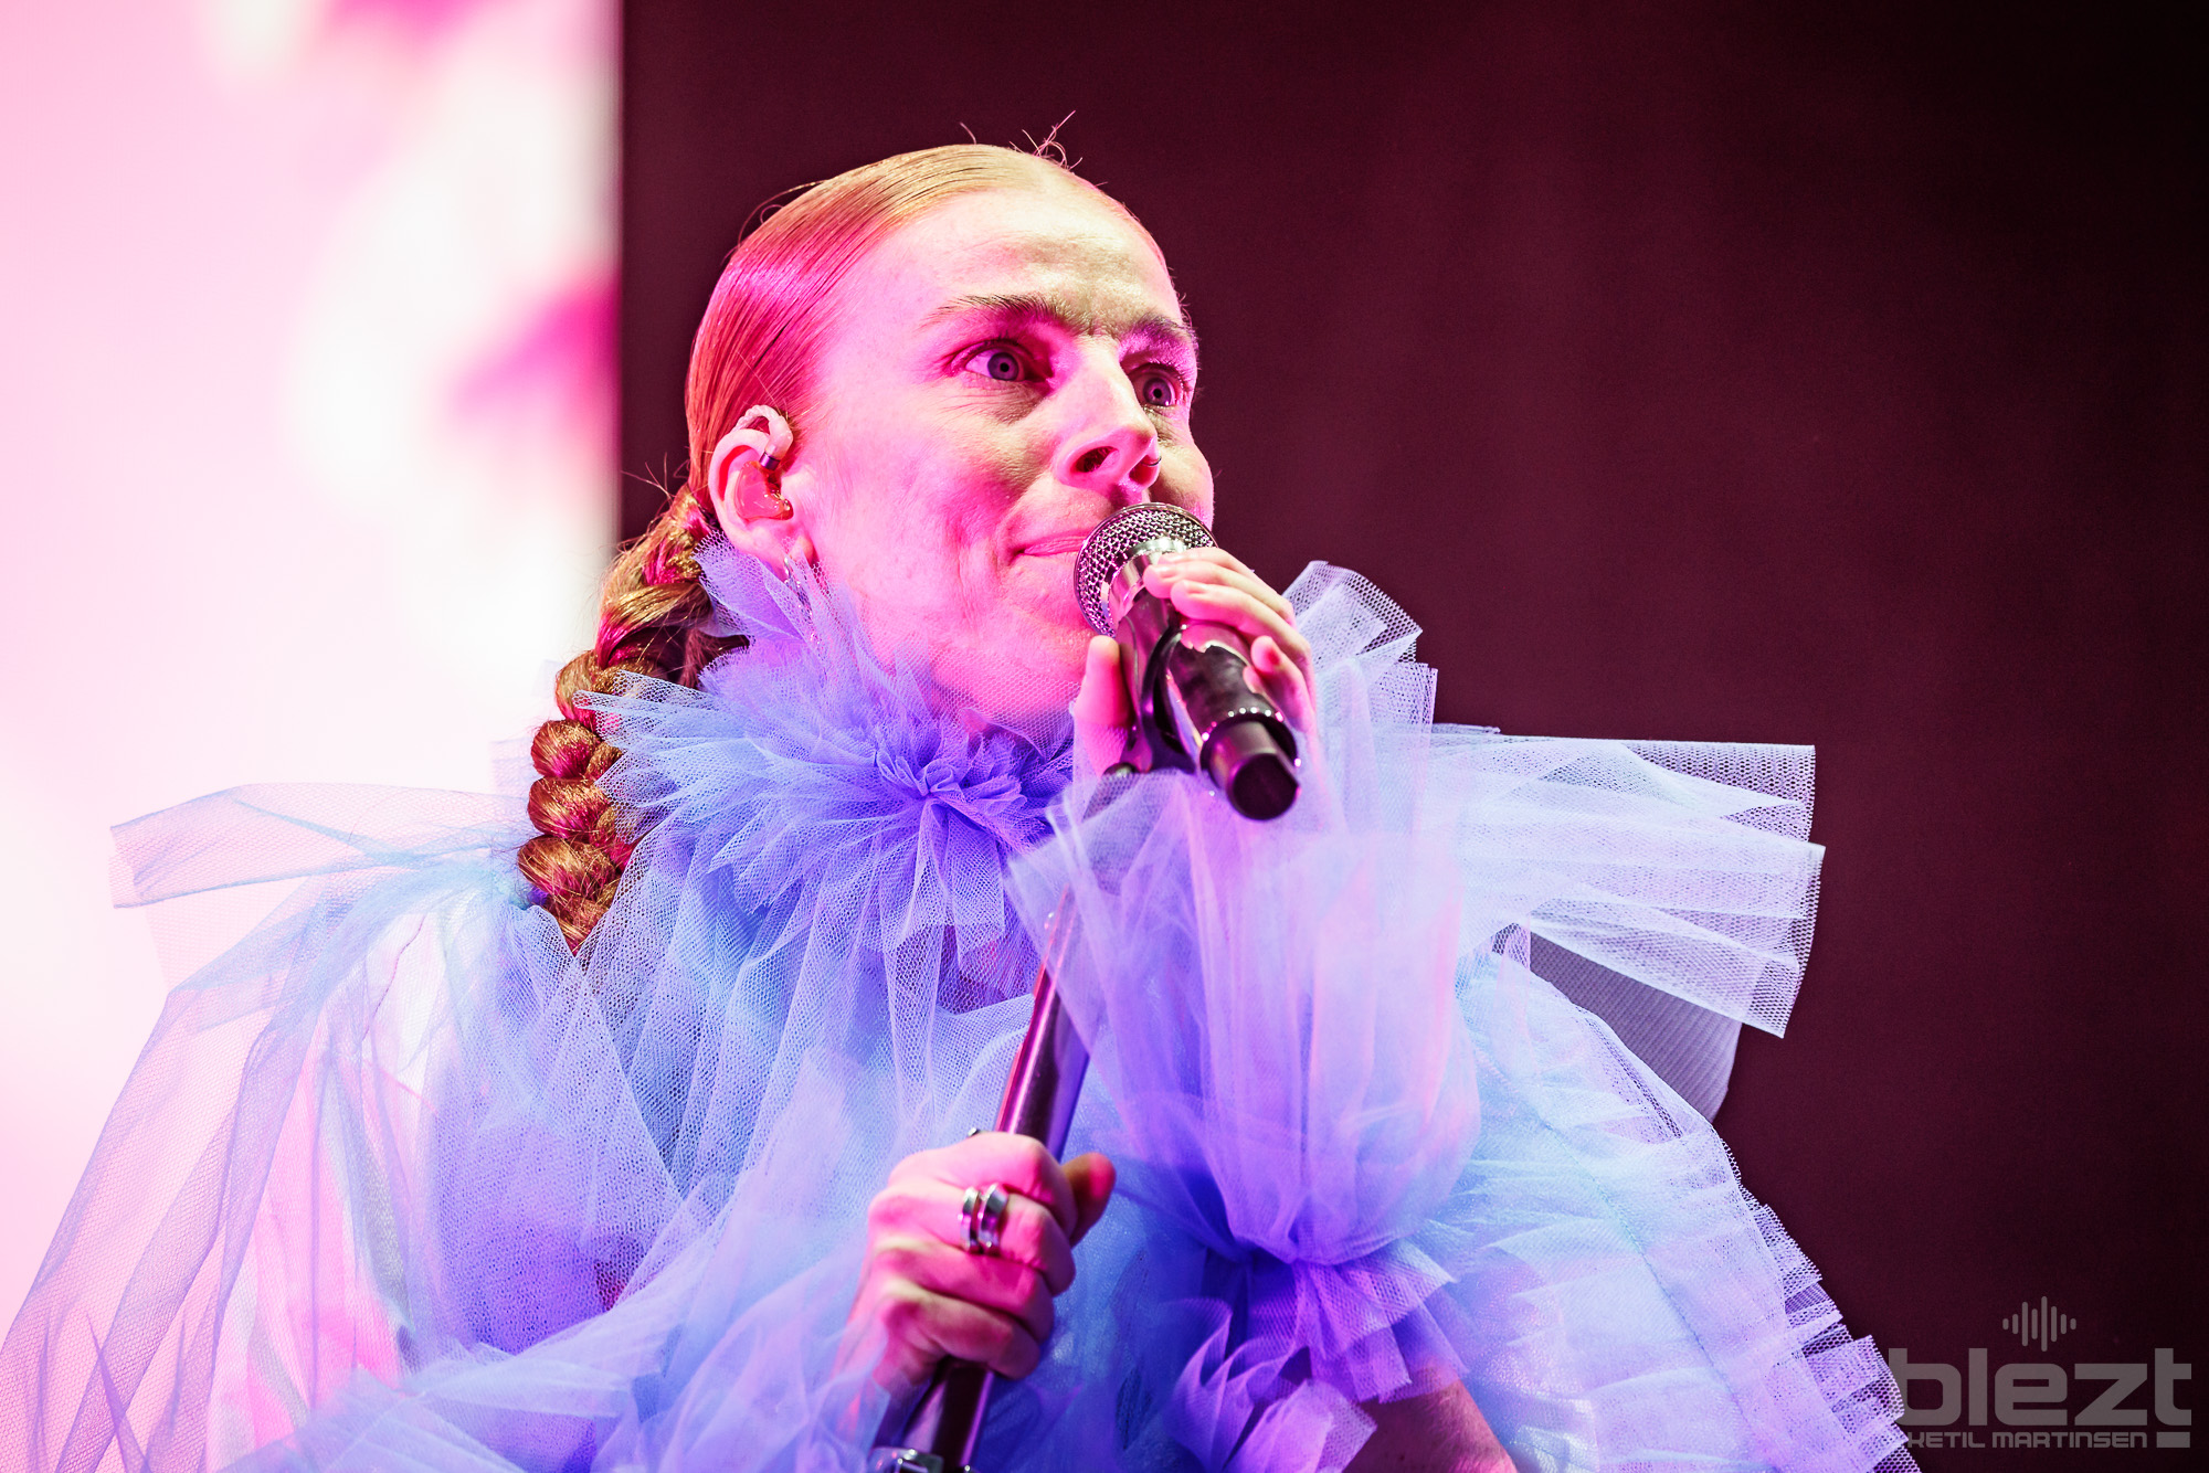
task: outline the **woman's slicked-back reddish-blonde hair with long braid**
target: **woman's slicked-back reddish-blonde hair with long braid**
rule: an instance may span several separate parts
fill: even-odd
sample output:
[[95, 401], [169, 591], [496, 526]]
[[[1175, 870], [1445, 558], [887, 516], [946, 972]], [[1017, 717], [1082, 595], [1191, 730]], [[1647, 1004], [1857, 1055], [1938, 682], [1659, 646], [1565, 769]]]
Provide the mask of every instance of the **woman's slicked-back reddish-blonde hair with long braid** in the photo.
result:
[[521, 846], [519, 866], [570, 947], [583, 945], [614, 903], [630, 859], [599, 788], [616, 751], [577, 698], [623, 674], [696, 685], [700, 669], [740, 643], [705, 632], [714, 610], [698, 583], [696, 548], [714, 532], [705, 490], [714, 446], [749, 406], [773, 404], [804, 453], [813, 369], [844, 276], [901, 225], [959, 194], [1054, 181], [1093, 188], [1051, 152], [1049, 144], [1043, 157], [954, 144], [868, 163], [804, 190], [731, 252], [691, 345], [683, 393], [689, 470], [645, 534], [614, 559], [599, 638], [559, 671], [552, 693], [561, 713], [530, 746], [537, 837]]

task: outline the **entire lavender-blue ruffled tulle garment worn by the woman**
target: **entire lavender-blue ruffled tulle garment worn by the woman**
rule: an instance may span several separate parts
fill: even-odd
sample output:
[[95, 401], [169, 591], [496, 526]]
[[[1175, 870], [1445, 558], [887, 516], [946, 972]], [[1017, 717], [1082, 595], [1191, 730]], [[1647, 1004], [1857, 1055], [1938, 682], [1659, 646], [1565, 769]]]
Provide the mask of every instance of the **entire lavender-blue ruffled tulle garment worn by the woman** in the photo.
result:
[[0, 1349], [11, 1462], [855, 1466], [866, 1201], [987, 1124], [1067, 912], [1069, 1151], [1122, 1195], [985, 1469], [1341, 1469], [1359, 1402], [1447, 1378], [1529, 1469], [1906, 1464], [1884, 1365], [1641, 1058], [1701, 1089], [1785, 1020], [1805, 753], [1431, 727], [1416, 632], [1314, 568], [1321, 731], [1255, 826], [1067, 786], [1063, 733], [934, 713], [842, 598], [707, 568], [751, 645], [596, 702], [641, 841], [579, 954], [517, 799], [117, 830], [133, 903], [292, 883], [102, 1135]]

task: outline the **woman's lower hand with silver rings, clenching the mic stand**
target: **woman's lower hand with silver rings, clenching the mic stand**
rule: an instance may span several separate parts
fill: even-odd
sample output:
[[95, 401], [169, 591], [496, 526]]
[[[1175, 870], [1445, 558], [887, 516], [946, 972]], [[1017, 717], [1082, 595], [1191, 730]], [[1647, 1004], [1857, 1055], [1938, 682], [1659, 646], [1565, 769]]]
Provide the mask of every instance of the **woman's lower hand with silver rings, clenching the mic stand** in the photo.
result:
[[[996, 1257], [965, 1250], [959, 1208], [968, 1188], [1007, 1193]], [[908, 1155], [866, 1212], [866, 1270], [846, 1345], [884, 1336], [875, 1380], [906, 1393], [943, 1356], [998, 1376], [1027, 1376], [1051, 1334], [1051, 1296], [1074, 1283], [1074, 1243], [1111, 1197], [1113, 1166], [1098, 1153], [1065, 1166], [1025, 1135], [990, 1131]]]

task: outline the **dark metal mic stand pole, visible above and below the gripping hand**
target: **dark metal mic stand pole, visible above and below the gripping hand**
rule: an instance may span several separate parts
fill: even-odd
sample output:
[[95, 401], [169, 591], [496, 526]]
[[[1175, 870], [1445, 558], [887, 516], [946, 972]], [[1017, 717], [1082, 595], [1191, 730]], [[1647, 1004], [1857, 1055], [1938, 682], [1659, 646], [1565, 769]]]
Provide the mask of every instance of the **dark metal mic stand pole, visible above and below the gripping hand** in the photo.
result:
[[[996, 1128], [1040, 1140], [1054, 1157], [1065, 1151], [1074, 1102], [1082, 1093], [1089, 1049], [1067, 1020], [1051, 978], [1051, 961], [1060, 954], [1071, 925], [1071, 897], [1058, 903], [1051, 939], [1036, 967], [1036, 1007], [1027, 1018], [1027, 1036], [1012, 1058], [1005, 1098], [996, 1106]], [[892, 1407], [875, 1435], [870, 1473], [974, 1473], [974, 1442], [981, 1440], [981, 1418], [990, 1407], [996, 1371], [972, 1360], [943, 1360], [921, 1398]]]

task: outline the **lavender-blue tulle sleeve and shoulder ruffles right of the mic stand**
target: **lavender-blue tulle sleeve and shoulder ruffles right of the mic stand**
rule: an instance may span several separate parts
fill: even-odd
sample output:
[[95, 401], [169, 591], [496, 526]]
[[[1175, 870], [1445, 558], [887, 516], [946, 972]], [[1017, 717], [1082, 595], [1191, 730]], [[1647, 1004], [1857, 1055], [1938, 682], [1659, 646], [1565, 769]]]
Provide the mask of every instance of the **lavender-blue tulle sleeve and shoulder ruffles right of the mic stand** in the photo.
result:
[[1396, 605], [1325, 565], [1288, 596], [1319, 698], [1297, 808], [1085, 780], [1016, 861], [1032, 928], [1078, 916], [1096, 1140], [1155, 1219], [1129, 1292], [1177, 1327], [1091, 1376], [1120, 1435], [1151, 1407], [1206, 1466], [1341, 1466], [1354, 1402], [1460, 1378], [1535, 1466], [1878, 1464], [1871, 1343], [1597, 1016], [1710, 1018], [1641, 1031], [1690, 1082], [1738, 1020], [1778, 1031], [1809, 753], [1434, 727]]

